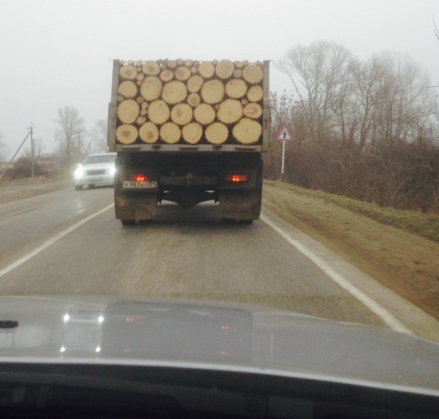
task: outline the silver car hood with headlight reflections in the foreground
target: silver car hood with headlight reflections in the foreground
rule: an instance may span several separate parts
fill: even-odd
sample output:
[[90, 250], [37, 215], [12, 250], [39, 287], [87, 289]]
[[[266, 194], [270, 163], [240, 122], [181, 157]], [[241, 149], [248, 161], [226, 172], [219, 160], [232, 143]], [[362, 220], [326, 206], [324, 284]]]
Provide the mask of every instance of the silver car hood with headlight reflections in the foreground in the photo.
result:
[[0, 362], [231, 368], [439, 395], [438, 344], [385, 328], [210, 302], [0, 298]]

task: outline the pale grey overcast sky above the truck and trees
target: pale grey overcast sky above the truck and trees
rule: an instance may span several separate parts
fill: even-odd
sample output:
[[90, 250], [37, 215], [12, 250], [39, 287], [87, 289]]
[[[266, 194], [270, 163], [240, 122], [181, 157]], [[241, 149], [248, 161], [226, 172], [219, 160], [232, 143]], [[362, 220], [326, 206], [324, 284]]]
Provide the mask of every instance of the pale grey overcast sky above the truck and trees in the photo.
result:
[[[408, 53], [439, 84], [439, 0], [0, 0], [0, 132], [12, 156], [29, 123], [56, 147], [57, 110], [106, 119], [113, 58], [278, 60], [328, 40], [361, 60]], [[270, 87], [292, 86], [274, 66]], [[439, 88], [438, 88], [439, 93]]]

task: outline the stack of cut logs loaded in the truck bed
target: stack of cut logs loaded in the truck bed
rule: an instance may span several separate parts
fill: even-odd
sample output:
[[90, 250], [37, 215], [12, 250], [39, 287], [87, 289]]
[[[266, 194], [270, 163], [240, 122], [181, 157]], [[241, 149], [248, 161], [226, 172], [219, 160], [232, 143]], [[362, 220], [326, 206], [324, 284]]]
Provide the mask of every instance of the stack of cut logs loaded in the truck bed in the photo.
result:
[[262, 85], [260, 62], [121, 62], [117, 141], [223, 144], [232, 135], [241, 144], [257, 143]]

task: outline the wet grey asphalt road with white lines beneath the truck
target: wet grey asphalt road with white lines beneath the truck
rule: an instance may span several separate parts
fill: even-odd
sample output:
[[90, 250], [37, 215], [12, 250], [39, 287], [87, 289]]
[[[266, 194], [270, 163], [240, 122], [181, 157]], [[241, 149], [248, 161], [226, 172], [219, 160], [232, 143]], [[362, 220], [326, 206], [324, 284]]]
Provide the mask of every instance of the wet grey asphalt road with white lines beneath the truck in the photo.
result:
[[0, 294], [226, 300], [359, 322], [439, 340], [436, 320], [263, 210], [222, 224], [215, 204], [158, 206], [123, 227], [112, 189], [0, 206]]

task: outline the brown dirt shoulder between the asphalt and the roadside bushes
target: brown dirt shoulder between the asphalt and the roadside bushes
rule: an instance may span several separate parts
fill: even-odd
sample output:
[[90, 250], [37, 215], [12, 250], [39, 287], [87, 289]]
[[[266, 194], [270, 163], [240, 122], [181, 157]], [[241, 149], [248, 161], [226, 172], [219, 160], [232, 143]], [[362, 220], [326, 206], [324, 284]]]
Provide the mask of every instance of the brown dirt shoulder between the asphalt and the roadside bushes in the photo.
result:
[[282, 182], [264, 182], [263, 207], [439, 320], [439, 243]]

